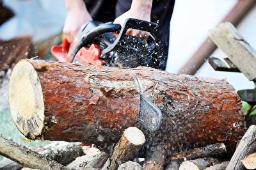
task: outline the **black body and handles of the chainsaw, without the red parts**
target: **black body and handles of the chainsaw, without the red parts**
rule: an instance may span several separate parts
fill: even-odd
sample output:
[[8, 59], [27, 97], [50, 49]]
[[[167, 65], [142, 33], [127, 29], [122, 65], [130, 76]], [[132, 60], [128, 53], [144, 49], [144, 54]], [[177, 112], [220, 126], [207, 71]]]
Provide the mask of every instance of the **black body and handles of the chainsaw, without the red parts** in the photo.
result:
[[[108, 28], [108, 31], [103, 33], [105, 27]], [[145, 38], [138, 36], [125, 35], [130, 28], [147, 31], [150, 36], [145, 40]], [[111, 33], [114, 31], [119, 33], [117, 38]], [[106, 66], [121, 68], [134, 68], [137, 66], [159, 67], [159, 61], [162, 56], [159, 47], [159, 26], [153, 22], [127, 19], [121, 28], [120, 25], [110, 22], [102, 24], [101, 22], [90, 21], [79, 31], [77, 38], [79, 38], [80, 43], [76, 46], [72, 56], [75, 56], [76, 51], [81, 47], [95, 43], [100, 49], [99, 59], [105, 61], [106, 64], [104, 65]]]

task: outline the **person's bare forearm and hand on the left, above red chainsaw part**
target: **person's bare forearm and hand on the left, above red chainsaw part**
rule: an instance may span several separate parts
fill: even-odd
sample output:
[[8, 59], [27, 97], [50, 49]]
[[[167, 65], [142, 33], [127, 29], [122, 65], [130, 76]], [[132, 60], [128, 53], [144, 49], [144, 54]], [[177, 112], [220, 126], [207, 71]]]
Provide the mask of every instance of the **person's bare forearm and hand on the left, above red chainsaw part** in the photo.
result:
[[79, 29], [84, 23], [92, 20], [83, 0], [64, 0], [67, 8], [67, 17], [63, 27], [63, 33], [68, 42], [72, 43]]

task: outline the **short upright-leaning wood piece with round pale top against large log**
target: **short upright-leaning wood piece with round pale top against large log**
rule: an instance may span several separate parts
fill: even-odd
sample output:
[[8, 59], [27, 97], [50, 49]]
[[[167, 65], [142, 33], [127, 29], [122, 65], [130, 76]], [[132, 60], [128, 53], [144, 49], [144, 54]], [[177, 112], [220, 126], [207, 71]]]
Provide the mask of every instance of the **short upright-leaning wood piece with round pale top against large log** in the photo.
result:
[[116, 170], [121, 164], [134, 160], [144, 143], [145, 136], [140, 129], [136, 127], [127, 128], [115, 146], [108, 169]]

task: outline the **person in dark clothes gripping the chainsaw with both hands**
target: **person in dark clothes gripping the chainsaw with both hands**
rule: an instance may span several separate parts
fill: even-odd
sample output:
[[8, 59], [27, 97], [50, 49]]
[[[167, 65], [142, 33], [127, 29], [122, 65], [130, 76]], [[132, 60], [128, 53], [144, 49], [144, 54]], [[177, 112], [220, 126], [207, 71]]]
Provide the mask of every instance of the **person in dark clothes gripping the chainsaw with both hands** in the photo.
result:
[[[125, 19], [134, 18], [156, 22], [160, 27], [160, 40], [163, 48], [159, 69], [165, 70], [168, 57], [170, 20], [175, 0], [64, 0], [67, 17], [63, 33], [68, 42], [72, 43], [84, 23], [90, 20], [100, 22], [113, 21], [124, 24]], [[147, 37], [145, 31], [129, 29], [127, 34]]]

